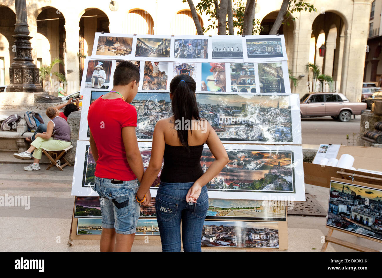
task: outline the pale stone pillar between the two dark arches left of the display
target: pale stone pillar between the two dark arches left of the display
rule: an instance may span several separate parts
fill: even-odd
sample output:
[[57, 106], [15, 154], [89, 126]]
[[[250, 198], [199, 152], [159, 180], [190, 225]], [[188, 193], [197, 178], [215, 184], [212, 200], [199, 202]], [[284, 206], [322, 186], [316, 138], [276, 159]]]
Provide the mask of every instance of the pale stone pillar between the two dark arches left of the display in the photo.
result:
[[79, 23], [77, 21], [66, 21], [66, 81], [68, 91], [79, 91]]

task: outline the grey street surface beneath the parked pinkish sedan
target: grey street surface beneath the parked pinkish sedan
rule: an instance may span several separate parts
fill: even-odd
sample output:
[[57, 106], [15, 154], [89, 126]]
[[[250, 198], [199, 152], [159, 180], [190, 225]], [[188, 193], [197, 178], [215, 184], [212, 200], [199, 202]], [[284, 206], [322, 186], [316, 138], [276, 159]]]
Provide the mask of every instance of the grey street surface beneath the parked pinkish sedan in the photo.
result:
[[[302, 139], [303, 144], [342, 144], [353, 145], [353, 133], [359, 132], [361, 116], [353, 117], [347, 123], [335, 121], [332, 117], [302, 118]], [[349, 141], [346, 140], [349, 134]], [[354, 135], [354, 145], [357, 134]]]

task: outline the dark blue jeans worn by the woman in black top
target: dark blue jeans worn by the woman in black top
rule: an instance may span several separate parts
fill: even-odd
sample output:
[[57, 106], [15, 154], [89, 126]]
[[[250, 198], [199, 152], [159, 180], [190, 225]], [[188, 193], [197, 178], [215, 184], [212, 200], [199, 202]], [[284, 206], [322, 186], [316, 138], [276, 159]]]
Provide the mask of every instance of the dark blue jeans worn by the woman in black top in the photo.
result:
[[[196, 204], [186, 202], [188, 189], [194, 183], [160, 183], [155, 210], [163, 252], [201, 252], [201, 238], [208, 210], [207, 187], [203, 186]], [[182, 236], [180, 236], [182, 223]]]

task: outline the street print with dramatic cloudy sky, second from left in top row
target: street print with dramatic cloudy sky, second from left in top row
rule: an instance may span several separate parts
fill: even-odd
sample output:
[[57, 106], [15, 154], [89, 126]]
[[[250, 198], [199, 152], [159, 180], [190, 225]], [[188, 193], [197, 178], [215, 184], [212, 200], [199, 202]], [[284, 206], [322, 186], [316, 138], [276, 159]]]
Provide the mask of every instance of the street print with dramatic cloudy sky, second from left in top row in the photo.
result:
[[170, 60], [170, 41], [171, 39], [161, 38], [160, 36], [148, 36], [136, 38], [135, 57], [142, 57], [137, 60]]

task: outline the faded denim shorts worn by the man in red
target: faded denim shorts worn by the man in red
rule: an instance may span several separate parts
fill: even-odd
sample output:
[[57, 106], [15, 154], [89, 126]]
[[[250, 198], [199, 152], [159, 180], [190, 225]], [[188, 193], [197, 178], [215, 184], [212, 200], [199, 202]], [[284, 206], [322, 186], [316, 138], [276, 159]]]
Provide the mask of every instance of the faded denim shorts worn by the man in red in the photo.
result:
[[111, 183], [110, 179], [95, 177], [95, 191], [100, 200], [102, 228], [115, 229], [118, 234], [133, 234], [140, 214], [135, 196], [137, 179]]

